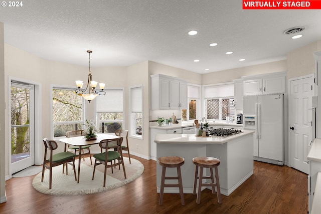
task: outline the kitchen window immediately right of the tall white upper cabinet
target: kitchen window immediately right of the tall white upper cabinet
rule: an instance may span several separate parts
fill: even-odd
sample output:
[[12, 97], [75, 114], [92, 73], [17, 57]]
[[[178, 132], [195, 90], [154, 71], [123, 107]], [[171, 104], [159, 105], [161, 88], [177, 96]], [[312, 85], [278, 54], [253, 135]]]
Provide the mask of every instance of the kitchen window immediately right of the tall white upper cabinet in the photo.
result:
[[201, 117], [201, 86], [187, 86], [188, 109], [182, 109], [182, 121], [195, 120]]

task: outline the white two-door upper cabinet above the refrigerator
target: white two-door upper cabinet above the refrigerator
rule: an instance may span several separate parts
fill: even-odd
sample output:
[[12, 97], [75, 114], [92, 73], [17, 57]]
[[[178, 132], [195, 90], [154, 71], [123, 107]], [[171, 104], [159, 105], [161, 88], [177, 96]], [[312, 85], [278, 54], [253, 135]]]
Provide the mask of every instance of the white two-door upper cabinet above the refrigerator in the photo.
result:
[[285, 76], [270, 76], [243, 81], [244, 95], [281, 94], [285, 92]]

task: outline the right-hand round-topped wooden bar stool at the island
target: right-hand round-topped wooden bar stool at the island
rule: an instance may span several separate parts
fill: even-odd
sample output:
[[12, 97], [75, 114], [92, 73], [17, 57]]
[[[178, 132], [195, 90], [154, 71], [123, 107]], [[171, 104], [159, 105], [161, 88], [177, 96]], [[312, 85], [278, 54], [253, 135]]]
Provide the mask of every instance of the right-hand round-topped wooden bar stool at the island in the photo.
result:
[[[196, 183], [197, 179], [199, 179], [199, 188], [197, 192], [196, 202], [201, 202], [201, 190], [202, 186], [212, 186], [212, 193], [215, 194], [215, 186], [217, 188], [217, 200], [219, 203], [222, 202], [221, 199], [221, 190], [220, 190], [220, 181], [219, 181], [219, 173], [217, 167], [220, 165], [220, 160], [214, 157], [194, 157], [193, 163], [195, 166], [195, 177], [194, 177], [194, 185], [193, 185], [193, 194], [196, 192]], [[200, 176], [198, 176], [198, 169], [200, 167]], [[210, 176], [203, 176], [203, 168], [210, 169]], [[213, 168], [215, 168], [215, 180], [213, 176]], [[211, 183], [203, 183], [203, 179], [211, 179]]]

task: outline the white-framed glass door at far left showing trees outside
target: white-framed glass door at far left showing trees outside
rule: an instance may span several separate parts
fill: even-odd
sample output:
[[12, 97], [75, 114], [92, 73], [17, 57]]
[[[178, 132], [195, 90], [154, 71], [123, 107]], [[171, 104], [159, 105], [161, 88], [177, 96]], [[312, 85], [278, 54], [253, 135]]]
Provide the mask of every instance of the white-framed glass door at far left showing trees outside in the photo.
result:
[[35, 164], [34, 85], [11, 83], [11, 174]]

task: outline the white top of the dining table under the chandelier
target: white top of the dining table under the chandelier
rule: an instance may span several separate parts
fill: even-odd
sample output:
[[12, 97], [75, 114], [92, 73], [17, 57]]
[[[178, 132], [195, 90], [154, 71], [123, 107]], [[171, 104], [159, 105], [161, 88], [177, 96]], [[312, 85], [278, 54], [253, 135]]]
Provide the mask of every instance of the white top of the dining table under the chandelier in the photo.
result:
[[84, 136], [79, 136], [79, 137], [62, 138], [62, 139], [59, 139], [59, 141], [73, 145], [73, 146], [86, 146], [86, 145], [98, 144], [101, 140], [118, 139], [118, 138], [121, 138], [121, 136], [119, 137], [114, 134], [97, 134], [96, 140], [86, 140]]

